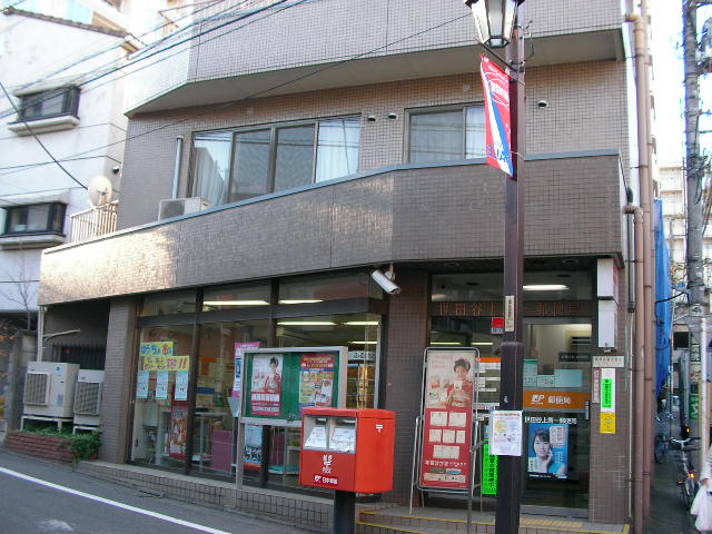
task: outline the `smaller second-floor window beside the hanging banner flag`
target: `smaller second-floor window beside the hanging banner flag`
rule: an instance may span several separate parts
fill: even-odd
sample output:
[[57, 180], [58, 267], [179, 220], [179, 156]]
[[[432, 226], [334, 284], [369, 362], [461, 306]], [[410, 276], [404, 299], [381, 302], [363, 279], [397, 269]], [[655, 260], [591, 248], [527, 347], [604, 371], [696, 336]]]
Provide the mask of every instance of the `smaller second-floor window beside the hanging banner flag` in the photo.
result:
[[485, 157], [483, 106], [411, 111], [412, 164]]

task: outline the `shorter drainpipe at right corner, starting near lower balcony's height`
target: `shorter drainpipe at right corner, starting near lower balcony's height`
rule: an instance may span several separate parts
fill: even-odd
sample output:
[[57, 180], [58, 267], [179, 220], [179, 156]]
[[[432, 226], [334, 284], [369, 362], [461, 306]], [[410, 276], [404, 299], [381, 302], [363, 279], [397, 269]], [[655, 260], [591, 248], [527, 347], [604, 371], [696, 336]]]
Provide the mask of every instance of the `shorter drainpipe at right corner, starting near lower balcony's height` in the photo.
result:
[[643, 473], [645, 464], [645, 315], [643, 314], [643, 210], [631, 204], [623, 208], [626, 215], [633, 215], [633, 235], [635, 240], [635, 342], [633, 348], [633, 528], [643, 534]]

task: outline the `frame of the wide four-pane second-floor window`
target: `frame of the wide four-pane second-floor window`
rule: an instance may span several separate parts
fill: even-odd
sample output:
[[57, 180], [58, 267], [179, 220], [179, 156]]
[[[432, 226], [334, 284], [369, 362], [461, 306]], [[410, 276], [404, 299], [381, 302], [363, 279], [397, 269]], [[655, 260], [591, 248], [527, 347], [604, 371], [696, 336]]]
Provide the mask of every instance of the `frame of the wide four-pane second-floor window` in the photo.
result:
[[[322, 181], [328, 181], [328, 180], [322, 180], [322, 181], [316, 181], [316, 176], [317, 176], [317, 152], [318, 152], [318, 147], [319, 147], [319, 126], [322, 122], [328, 122], [332, 120], [348, 120], [348, 119], [353, 119], [354, 121], [356, 121], [358, 123], [358, 128], [359, 128], [359, 136], [358, 136], [358, 151], [359, 155], [358, 157], [360, 158], [360, 147], [362, 147], [362, 115], [360, 113], [349, 113], [349, 115], [342, 115], [342, 116], [335, 116], [335, 117], [319, 117], [319, 118], [314, 118], [314, 119], [304, 119], [304, 120], [290, 120], [290, 121], [284, 121], [284, 122], [271, 122], [271, 123], [259, 123], [259, 125], [249, 125], [249, 126], [240, 126], [240, 127], [235, 127], [235, 128], [221, 128], [221, 129], [215, 129], [215, 130], [200, 130], [200, 131], [194, 131], [192, 132], [192, 140], [191, 140], [191, 145], [190, 145], [190, 175], [189, 175], [189, 181], [188, 181], [188, 190], [190, 191], [190, 196], [196, 196], [198, 192], [197, 186], [198, 186], [198, 179], [196, 176], [196, 149], [195, 149], [195, 142], [196, 142], [196, 138], [199, 137], [200, 135], [205, 135], [205, 134], [214, 134], [214, 132], [229, 132], [230, 134], [230, 160], [229, 160], [229, 171], [228, 171], [228, 187], [226, 188], [226, 192], [225, 192], [225, 199], [222, 201], [222, 204], [218, 204], [217, 206], [226, 206], [229, 204], [234, 204], [234, 202], [239, 202], [239, 201], [244, 201], [247, 199], [253, 199], [253, 198], [258, 198], [265, 195], [273, 195], [276, 192], [280, 192], [280, 191], [288, 191], [290, 189], [298, 189], [299, 187], [309, 187], [309, 186], [314, 186], [316, 184], [320, 184]], [[298, 128], [298, 127], [305, 127], [305, 126], [313, 126], [314, 127], [314, 142], [312, 146], [312, 176], [309, 178], [309, 184], [304, 185], [304, 186], [298, 186], [296, 188], [289, 188], [289, 189], [279, 189], [279, 190], [275, 190], [275, 184], [276, 184], [276, 174], [277, 174], [277, 147], [278, 147], [278, 131], [281, 129], [289, 129], [289, 128]], [[268, 176], [267, 176], [267, 182], [266, 182], [266, 188], [267, 191], [260, 195], [255, 195], [253, 197], [248, 197], [248, 198], [244, 198], [240, 200], [229, 200], [230, 196], [235, 192], [237, 194], [237, 191], [235, 190], [236, 187], [236, 181], [234, 180], [234, 172], [235, 172], [235, 150], [237, 148], [237, 142], [236, 142], [236, 138], [239, 134], [247, 134], [247, 132], [251, 132], [251, 131], [259, 131], [259, 130], [268, 130], [269, 131], [269, 161], [268, 161]], [[353, 176], [355, 174], [358, 172], [359, 169], [359, 161], [357, 160], [357, 167], [356, 170], [352, 174], [352, 175], [345, 175], [345, 176]]]

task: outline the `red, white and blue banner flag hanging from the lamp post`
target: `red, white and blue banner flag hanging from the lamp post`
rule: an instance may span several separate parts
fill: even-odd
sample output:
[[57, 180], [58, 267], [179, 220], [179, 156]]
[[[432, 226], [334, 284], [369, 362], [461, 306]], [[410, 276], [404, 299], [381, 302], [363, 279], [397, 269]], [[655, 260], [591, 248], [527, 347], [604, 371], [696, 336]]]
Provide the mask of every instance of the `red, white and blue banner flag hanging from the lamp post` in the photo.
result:
[[510, 76], [481, 55], [479, 73], [485, 93], [485, 144], [487, 165], [514, 175], [510, 139]]

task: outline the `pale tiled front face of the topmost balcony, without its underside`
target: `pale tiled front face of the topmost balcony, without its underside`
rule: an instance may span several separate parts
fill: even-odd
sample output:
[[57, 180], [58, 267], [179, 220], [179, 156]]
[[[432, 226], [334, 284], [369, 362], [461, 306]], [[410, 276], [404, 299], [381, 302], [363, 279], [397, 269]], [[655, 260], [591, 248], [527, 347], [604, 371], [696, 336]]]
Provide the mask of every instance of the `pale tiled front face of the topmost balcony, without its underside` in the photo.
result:
[[[427, 0], [320, 0], [298, 6], [279, 6], [256, 14], [250, 14], [250, 11], [264, 7], [266, 2], [251, 2], [248, 9], [244, 6], [240, 9], [240, 3], [244, 2], [218, 2], [210, 10], [218, 18], [200, 23], [192, 34], [197, 36], [210, 28], [215, 28], [215, 31], [171, 49], [171, 53], [175, 53], [175, 69], [172, 63], [166, 61], [152, 65], [148, 69], [148, 83], [131, 88], [128, 108], [134, 109], [158, 95], [170, 95], [187, 85], [207, 80], [244, 77], [243, 83], [250, 83], [251, 76], [265, 72], [279, 76], [280, 72], [345, 60], [368, 63], [374, 59], [387, 60], [399, 53], [452, 51], [463, 47], [469, 47], [472, 53], [476, 53], [473, 47], [475, 34], [472, 13], [462, 2], [441, 2], [437, 9], [433, 9], [432, 2]], [[532, 2], [531, 6], [527, 3], [524, 8], [527, 27], [534, 38], [604, 32], [620, 29], [623, 22], [620, 0], [596, 3], [585, 0], [547, 0]], [[228, 9], [226, 16], [224, 11]], [[200, 12], [198, 17], [210, 11]], [[229, 19], [229, 16], [236, 14], [247, 18]], [[318, 40], [314, 39], [315, 20], [328, 21], [319, 24]], [[573, 51], [576, 44], [570, 43], [567, 48]], [[533, 61], [556, 62], [561, 57], [561, 50], [543, 53], [544, 49], [540, 47], [538, 51], [540, 56], [532, 58]], [[583, 59], [595, 56], [599, 50], [577, 49], [573, 53]], [[356, 62], [352, 61], [352, 65], [358, 71]], [[384, 67], [385, 62], [376, 63], [377, 69], [384, 70], [362, 70], [360, 73], [379, 79], [422, 76], [417, 73], [417, 66], [411, 69], [404, 65], [388, 63], [390, 67]], [[452, 73], [453, 65], [445, 59], [433, 69], [441, 75]], [[325, 82], [330, 87], [357, 85], [355, 71], [343, 70], [338, 75], [340, 79], [329, 78], [329, 73]], [[314, 77], [309, 77], [299, 83], [304, 87], [314, 80]], [[281, 91], [285, 89], [279, 88]]]

